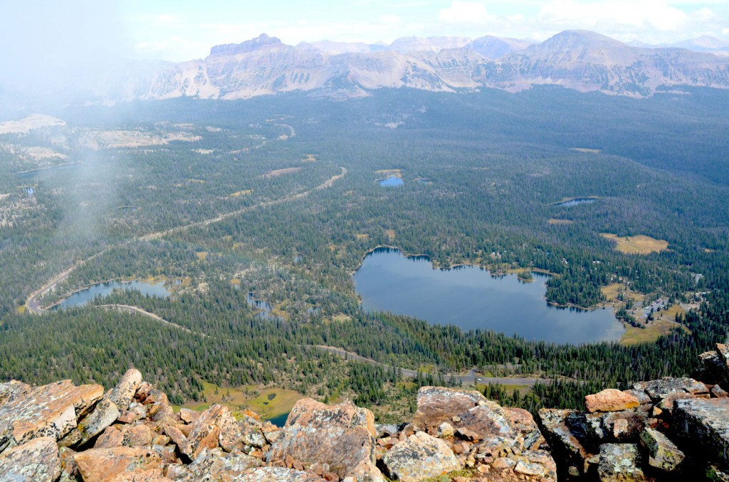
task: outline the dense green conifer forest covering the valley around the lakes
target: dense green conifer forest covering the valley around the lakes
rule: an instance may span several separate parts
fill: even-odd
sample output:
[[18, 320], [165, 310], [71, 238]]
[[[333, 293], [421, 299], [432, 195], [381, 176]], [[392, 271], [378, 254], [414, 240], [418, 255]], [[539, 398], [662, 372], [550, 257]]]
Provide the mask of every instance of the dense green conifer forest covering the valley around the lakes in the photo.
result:
[[[174, 403], [203, 399], [209, 382], [382, 406], [476, 367], [558, 380], [526, 395], [482, 387], [534, 410], [690, 374], [729, 328], [728, 110], [717, 90], [636, 100], [545, 87], [49, 113], [66, 125], [0, 136], [0, 378], [108, 386], [136, 366]], [[63, 158], [24, 157], [31, 147]], [[380, 186], [393, 173], [404, 184]], [[578, 197], [594, 200], [559, 204]], [[606, 234], [668, 248], [621, 251]], [[636, 301], [687, 309], [650, 341], [580, 346], [364, 312], [351, 273], [381, 245], [438, 267], [548, 272], [546, 301], [607, 303], [641, 331]], [[74, 265], [42, 304], [104, 280], [154, 278], [171, 296], [116, 291], [29, 315], [28, 296]], [[109, 304], [169, 323], [97, 306]]]

